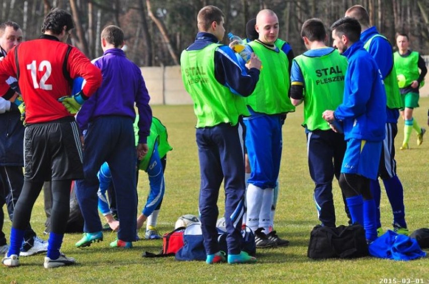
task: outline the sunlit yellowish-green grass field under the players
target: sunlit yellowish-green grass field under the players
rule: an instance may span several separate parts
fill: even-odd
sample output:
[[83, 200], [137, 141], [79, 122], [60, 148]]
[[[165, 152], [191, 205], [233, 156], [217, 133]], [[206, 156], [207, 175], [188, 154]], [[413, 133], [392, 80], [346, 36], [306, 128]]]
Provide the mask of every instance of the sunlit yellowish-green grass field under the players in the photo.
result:
[[[415, 117], [426, 125], [429, 98], [420, 100]], [[171, 231], [183, 214], [197, 215], [199, 169], [195, 144], [195, 118], [192, 106], [154, 106], [154, 116], [167, 126], [174, 150], [168, 154], [166, 194], [159, 217], [161, 233]], [[307, 167], [306, 138], [302, 122], [302, 107], [290, 114], [283, 127], [283, 153], [280, 169], [280, 194], [275, 217], [275, 229], [290, 246], [259, 249], [254, 265], [206, 265], [204, 262], [178, 262], [173, 257], [145, 259], [144, 251], [158, 252], [162, 241], [139, 241], [130, 250], [112, 249], [109, 242], [115, 234], [106, 233], [104, 242], [77, 249], [80, 234], [66, 234], [62, 251], [77, 259], [77, 264], [56, 269], [44, 269], [44, 255], [21, 257], [17, 268], [0, 267], [1, 283], [429, 283], [429, 258], [409, 262], [365, 257], [354, 260], [314, 261], [307, 257], [310, 231], [318, 224], [312, 199], [314, 184]], [[427, 128], [427, 126], [426, 126]], [[398, 176], [405, 195], [406, 218], [411, 231], [429, 227], [429, 134], [417, 148], [416, 135], [411, 149], [399, 151], [403, 139], [403, 121], [398, 124], [396, 159]], [[146, 202], [148, 182], [140, 174], [139, 208]], [[346, 223], [340, 189], [334, 184], [337, 225]], [[221, 191], [222, 192], [222, 191]], [[219, 200], [223, 212], [224, 195]], [[6, 210], [6, 209], [4, 209]], [[391, 227], [392, 213], [386, 195], [382, 194], [382, 224]], [[39, 235], [45, 217], [40, 196], [31, 224]], [[11, 222], [5, 220], [9, 236]], [[139, 233], [144, 236], [144, 230]], [[43, 236], [42, 236], [43, 237]], [[46, 238], [46, 237], [45, 237]], [[426, 252], [429, 252], [426, 250]], [[417, 282], [418, 281], [418, 282]]]

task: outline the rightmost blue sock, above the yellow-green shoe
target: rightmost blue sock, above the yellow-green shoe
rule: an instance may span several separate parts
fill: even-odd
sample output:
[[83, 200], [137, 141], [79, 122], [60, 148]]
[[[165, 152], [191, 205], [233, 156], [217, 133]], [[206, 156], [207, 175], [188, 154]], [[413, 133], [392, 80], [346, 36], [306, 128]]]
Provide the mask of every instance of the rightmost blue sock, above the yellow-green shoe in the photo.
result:
[[386, 187], [387, 197], [392, 206], [393, 223], [397, 223], [402, 228], [406, 228], [407, 223], [405, 222], [404, 190], [402, 188], [402, 183], [397, 175], [389, 179], [384, 179], [383, 182], [384, 187]]

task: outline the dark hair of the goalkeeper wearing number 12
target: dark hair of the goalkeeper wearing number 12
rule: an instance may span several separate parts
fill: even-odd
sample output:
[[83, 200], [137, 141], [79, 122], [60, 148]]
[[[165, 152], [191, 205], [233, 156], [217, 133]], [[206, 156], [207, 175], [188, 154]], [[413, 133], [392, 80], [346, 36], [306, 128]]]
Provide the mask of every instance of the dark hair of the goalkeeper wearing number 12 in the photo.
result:
[[72, 15], [65, 10], [54, 8], [43, 19], [42, 33], [50, 31], [54, 35], [59, 35], [64, 26], [66, 32], [75, 28]]

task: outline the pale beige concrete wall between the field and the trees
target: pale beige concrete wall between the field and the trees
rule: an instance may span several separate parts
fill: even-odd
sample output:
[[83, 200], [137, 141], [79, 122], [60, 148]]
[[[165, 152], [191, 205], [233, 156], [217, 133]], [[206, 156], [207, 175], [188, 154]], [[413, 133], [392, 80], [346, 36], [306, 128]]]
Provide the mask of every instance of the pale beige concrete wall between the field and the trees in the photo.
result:
[[[429, 56], [423, 56], [429, 66]], [[141, 67], [141, 74], [151, 96], [151, 105], [191, 105], [192, 100], [182, 82], [180, 66]], [[429, 69], [429, 67], [428, 67]], [[420, 96], [429, 97], [429, 74], [420, 88]]]

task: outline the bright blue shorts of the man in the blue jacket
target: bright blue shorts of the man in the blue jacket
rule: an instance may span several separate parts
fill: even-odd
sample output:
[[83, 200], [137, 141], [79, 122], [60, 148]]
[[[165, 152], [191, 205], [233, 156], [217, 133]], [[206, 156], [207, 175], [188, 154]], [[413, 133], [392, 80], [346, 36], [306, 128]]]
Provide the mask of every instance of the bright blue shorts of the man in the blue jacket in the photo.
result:
[[342, 173], [355, 173], [377, 179], [383, 141], [349, 139], [342, 161]]

